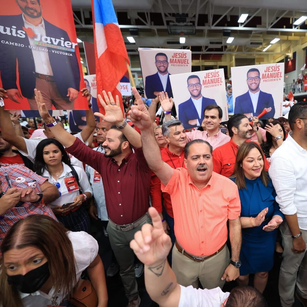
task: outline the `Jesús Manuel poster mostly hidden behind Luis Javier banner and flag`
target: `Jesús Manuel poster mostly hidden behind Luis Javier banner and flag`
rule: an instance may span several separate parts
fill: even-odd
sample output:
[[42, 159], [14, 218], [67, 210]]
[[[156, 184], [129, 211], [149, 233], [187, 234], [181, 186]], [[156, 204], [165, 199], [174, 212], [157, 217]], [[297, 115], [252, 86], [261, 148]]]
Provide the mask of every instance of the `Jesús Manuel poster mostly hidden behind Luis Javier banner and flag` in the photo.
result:
[[[84, 76], [84, 82], [87, 90], [91, 93], [90, 103], [93, 112], [99, 112], [97, 103], [97, 83], [96, 75]], [[67, 110], [68, 123], [71, 132], [80, 132], [86, 126], [86, 115], [84, 110]], [[99, 122], [100, 117], [95, 116], [96, 122]]]

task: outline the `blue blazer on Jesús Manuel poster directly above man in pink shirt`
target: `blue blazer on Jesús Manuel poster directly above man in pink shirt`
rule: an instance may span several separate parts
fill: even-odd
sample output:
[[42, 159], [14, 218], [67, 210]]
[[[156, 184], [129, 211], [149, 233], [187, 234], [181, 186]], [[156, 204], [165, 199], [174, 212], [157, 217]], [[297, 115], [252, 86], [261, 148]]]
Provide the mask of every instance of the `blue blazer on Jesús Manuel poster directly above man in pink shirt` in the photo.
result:
[[207, 98], [203, 96], [202, 102], [201, 102], [201, 117], [198, 116], [198, 112], [194, 106], [194, 103], [192, 101], [192, 98], [188, 99], [185, 102], [180, 103], [178, 106], [178, 112], [179, 112], [179, 120], [183, 123], [183, 127], [185, 129], [195, 128], [197, 125], [190, 125], [189, 121], [193, 119], [198, 119], [200, 125], [202, 121], [204, 120], [204, 109], [205, 107], [209, 106], [210, 104], [217, 104], [214, 99]]

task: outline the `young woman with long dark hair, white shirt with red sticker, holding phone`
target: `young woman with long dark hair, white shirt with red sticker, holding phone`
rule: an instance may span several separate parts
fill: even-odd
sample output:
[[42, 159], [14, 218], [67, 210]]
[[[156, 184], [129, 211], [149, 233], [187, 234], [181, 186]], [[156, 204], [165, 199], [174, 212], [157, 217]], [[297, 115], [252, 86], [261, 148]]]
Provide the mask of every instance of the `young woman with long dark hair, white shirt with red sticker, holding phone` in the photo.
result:
[[92, 196], [93, 191], [85, 171], [70, 164], [59, 141], [47, 138], [39, 142], [34, 170], [59, 189], [60, 197], [48, 204], [57, 219], [71, 231], [89, 233], [90, 219], [82, 203]]

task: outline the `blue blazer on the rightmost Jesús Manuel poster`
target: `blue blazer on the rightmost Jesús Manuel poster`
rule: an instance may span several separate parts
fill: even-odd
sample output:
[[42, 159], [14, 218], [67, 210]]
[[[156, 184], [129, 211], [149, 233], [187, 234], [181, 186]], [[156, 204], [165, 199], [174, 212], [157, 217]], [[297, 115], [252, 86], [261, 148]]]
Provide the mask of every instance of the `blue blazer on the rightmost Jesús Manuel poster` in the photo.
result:
[[258, 116], [264, 108], [271, 107], [272, 110], [261, 117], [261, 119], [268, 119], [270, 117], [274, 117], [275, 114], [275, 107], [274, 107], [274, 100], [273, 96], [271, 94], [265, 93], [263, 91], [260, 91], [258, 102], [257, 102], [257, 108], [256, 108], [256, 114], [254, 114], [254, 107], [252, 105], [252, 99], [251, 96], [249, 96], [248, 91], [241, 95], [237, 96], [235, 100], [235, 110], [234, 113], [253, 113], [254, 116]]

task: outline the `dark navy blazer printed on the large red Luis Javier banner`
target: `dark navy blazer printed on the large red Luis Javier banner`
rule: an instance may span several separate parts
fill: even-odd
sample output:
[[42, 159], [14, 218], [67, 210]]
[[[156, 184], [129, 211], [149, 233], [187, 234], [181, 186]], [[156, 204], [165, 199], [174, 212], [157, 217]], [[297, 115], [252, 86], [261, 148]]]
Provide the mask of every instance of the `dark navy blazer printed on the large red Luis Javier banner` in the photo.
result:
[[[23, 30], [24, 22], [22, 14], [13, 16], [0, 16], [1, 25], [11, 28], [16, 26], [16, 32]], [[70, 41], [66, 31], [56, 27], [44, 19], [46, 36], [56, 39], [64, 38], [64, 41]], [[18, 61], [19, 86], [21, 93], [26, 98], [34, 97], [34, 88], [36, 86], [35, 64], [32, 50], [29, 48], [29, 39], [27, 34], [25, 38], [20, 38], [13, 35], [6, 35], [0, 33], [0, 39], [13, 44], [0, 44], [0, 72], [1, 80], [4, 89], [17, 89], [16, 66]], [[24, 47], [21, 47], [23, 44]], [[39, 46], [46, 49], [45, 46]], [[71, 54], [64, 55], [57, 52], [66, 52]], [[44, 51], [41, 51], [44, 52]], [[53, 76], [56, 85], [63, 98], [66, 98], [69, 87], [80, 90], [80, 70], [79, 63], [75, 52], [65, 51], [61, 49], [48, 48], [49, 61], [52, 68]], [[16, 61], [17, 60], [17, 61]]]

